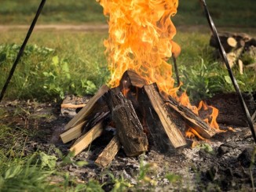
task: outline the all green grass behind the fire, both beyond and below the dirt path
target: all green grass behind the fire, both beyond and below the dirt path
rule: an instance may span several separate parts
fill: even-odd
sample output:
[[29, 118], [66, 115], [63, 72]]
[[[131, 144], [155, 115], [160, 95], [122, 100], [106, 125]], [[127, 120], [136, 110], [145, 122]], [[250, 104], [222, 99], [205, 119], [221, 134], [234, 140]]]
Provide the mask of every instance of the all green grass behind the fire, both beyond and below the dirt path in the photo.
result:
[[[0, 24], [30, 24], [40, 2], [2, 0]], [[251, 9], [254, 1], [246, 0], [241, 4], [237, 0], [215, 0], [207, 3], [219, 26], [255, 33], [252, 28], [255, 27], [256, 13]], [[38, 24], [92, 23], [106, 23], [101, 6], [93, 0], [47, 1], [38, 20]], [[208, 45], [210, 31], [199, 1], [180, 1], [174, 24], [177, 26], [175, 40], [182, 48], [177, 61], [185, 83], [183, 88], [191, 98], [198, 100], [215, 92], [232, 91], [225, 67], [213, 59], [213, 49]], [[5, 74], [0, 77], [2, 86], [26, 31], [0, 31], [0, 34], [0, 69]], [[108, 81], [103, 47], [107, 36], [107, 31], [34, 31], [5, 98], [58, 100], [65, 93], [95, 92]], [[235, 68], [234, 73], [243, 91], [255, 90], [253, 71], [240, 75]]]

